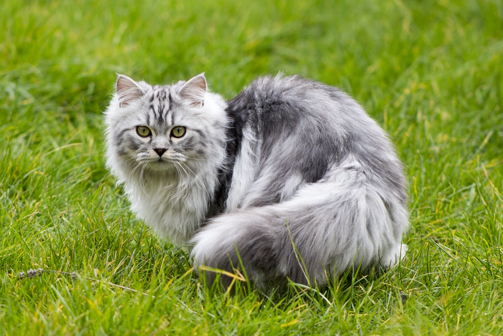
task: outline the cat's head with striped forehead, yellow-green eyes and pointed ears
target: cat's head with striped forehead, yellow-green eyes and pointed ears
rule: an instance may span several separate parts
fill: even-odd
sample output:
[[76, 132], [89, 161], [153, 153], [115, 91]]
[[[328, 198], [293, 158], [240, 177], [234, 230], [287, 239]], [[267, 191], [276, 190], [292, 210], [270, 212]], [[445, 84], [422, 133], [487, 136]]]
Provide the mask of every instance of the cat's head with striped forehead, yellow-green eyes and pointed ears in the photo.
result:
[[223, 160], [226, 104], [204, 74], [152, 86], [118, 75], [106, 114], [107, 166], [124, 182], [133, 170], [178, 171]]

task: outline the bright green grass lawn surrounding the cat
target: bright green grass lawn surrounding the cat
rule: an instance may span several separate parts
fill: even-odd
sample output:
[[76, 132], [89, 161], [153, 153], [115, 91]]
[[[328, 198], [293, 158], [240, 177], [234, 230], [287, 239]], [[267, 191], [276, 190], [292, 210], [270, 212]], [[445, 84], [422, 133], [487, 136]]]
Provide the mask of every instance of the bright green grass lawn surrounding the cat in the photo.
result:
[[[3, 0], [0, 13], [1, 334], [503, 334], [501, 0]], [[136, 221], [104, 167], [115, 73], [203, 71], [227, 98], [282, 71], [365, 106], [406, 166], [403, 262], [229, 296]], [[17, 278], [39, 267], [78, 276]]]

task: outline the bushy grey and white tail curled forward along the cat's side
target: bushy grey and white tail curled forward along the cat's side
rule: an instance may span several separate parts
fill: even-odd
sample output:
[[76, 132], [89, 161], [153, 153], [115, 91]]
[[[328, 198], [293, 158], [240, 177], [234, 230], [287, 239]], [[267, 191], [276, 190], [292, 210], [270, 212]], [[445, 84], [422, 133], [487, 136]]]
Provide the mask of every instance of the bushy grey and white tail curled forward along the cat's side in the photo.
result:
[[230, 272], [242, 264], [262, 285], [287, 277], [323, 285], [352, 266], [393, 267], [405, 254], [407, 225], [405, 206], [373, 187], [356, 160], [347, 160], [288, 201], [214, 218], [193, 238], [192, 256], [196, 266]]

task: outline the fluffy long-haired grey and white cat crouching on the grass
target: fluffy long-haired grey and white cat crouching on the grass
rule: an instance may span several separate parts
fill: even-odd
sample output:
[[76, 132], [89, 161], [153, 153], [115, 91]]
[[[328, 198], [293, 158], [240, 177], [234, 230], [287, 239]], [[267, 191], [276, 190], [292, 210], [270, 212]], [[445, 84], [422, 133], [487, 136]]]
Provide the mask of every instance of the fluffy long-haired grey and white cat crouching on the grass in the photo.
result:
[[203, 74], [167, 86], [118, 75], [105, 114], [107, 166], [131, 210], [194, 245], [197, 265], [232, 271], [237, 250], [257, 284], [312, 286], [405, 254], [401, 163], [336, 88], [262, 77], [226, 102]]

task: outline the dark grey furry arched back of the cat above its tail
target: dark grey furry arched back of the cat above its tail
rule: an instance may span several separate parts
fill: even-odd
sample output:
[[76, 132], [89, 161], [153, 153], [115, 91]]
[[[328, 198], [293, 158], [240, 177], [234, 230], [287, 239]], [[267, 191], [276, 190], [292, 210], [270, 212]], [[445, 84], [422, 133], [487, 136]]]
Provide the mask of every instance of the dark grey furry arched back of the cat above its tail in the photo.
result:
[[260, 77], [228, 102], [227, 111], [234, 138], [251, 138], [256, 178], [269, 169], [280, 185], [296, 173], [313, 183], [353, 155], [371, 183], [406, 201], [403, 169], [386, 133], [341, 90], [300, 76]]

